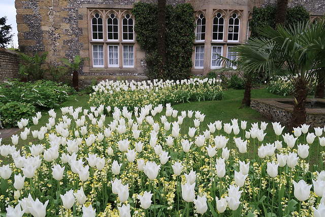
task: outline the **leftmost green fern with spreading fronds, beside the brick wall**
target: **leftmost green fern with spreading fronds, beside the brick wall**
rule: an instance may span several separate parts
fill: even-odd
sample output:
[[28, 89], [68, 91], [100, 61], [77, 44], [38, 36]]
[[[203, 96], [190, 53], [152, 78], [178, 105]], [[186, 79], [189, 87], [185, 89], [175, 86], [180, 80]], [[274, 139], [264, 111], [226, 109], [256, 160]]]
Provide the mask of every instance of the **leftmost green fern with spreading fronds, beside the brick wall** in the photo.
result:
[[33, 80], [39, 80], [44, 78], [46, 72], [46, 66], [44, 65], [47, 59], [47, 52], [39, 55], [37, 52], [34, 56], [28, 56], [24, 53], [20, 53], [20, 58], [23, 60], [19, 66], [19, 74], [30, 77]]

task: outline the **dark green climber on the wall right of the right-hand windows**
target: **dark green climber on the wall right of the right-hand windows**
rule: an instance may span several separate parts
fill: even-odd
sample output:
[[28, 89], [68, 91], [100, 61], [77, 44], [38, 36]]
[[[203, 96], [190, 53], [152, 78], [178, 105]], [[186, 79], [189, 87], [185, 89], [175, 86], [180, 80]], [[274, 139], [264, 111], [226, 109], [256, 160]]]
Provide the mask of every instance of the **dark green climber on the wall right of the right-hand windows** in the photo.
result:
[[[267, 6], [265, 8], [253, 8], [253, 17], [249, 22], [252, 38], [264, 38], [260, 31], [267, 25], [275, 28], [276, 6]], [[309, 13], [303, 6], [288, 8], [286, 12], [285, 25], [293, 25], [298, 22], [307, 22], [310, 19]]]

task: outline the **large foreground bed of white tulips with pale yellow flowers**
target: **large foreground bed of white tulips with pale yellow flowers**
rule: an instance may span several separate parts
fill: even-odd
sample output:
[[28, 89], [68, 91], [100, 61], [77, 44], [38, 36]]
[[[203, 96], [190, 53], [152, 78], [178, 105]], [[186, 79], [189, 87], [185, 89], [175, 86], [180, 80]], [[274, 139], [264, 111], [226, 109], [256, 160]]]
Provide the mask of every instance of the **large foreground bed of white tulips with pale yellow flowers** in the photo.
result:
[[60, 117], [51, 110], [47, 126], [30, 132], [38, 145], [15, 150], [27, 128], [2, 145], [13, 163], [0, 168], [0, 212], [15, 206], [34, 216], [324, 214], [322, 160], [308, 164], [309, 145], [324, 154], [323, 128], [282, 135], [273, 123], [278, 140], [263, 144], [265, 122], [248, 130], [245, 121], [215, 121], [203, 131], [204, 114], [169, 104], [166, 112], [144, 106], [136, 116], [114, 108], [113, 119], [104, 109], [66, 107]]

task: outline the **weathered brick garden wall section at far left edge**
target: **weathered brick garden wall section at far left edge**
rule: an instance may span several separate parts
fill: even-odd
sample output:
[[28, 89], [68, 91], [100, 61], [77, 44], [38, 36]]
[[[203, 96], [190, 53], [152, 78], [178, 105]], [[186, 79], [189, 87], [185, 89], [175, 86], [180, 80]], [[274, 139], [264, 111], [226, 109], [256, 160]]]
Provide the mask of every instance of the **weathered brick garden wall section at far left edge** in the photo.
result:
[[20, 58], [12, 50], [0, 47], [0, 82], [8, 78], [20, 78], [18, 74]]

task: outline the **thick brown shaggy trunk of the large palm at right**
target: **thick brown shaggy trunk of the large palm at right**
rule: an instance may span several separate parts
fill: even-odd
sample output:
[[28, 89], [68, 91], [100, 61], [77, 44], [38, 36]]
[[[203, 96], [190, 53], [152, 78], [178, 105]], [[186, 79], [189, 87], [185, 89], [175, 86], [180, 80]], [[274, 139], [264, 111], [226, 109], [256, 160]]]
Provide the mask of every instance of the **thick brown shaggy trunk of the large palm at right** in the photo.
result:
[[307, 87], [306, 83], [299, 79], [297, 81], [297, 86], [295, 89], [295, 102], [294, 102], [294, 112], [291, 117], [291, 122], [289, 125], [289, 130], [293, 128], [300, 127], [306, 123], [306, 99], [307, 99]]

